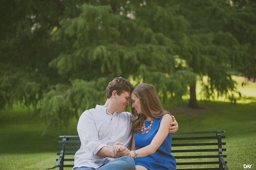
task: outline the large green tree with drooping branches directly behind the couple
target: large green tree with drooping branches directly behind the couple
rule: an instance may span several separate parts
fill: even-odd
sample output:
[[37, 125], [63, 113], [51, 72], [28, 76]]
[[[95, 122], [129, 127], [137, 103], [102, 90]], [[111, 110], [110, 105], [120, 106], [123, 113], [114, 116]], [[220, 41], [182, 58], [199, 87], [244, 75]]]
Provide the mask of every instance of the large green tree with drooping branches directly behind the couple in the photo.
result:
[[42, 113], [54, 122], [60, 114], [77, 115], [94, 107], [104, 101], [107, 83], [117, 76], [152, 83], [163, 100], [168, 95], [181, 98], [195, 74], [176, 69], [179, 40], [165, 34], [180, 32], [187, 23], [175, 15], [175, 6], [162, 6], [163, 2], [92, 2], [79, 6], [76, 17], [62, 19], [53, 34], [62, 51], [50, 66], [72, 85], [53, 87], [42, 102]]

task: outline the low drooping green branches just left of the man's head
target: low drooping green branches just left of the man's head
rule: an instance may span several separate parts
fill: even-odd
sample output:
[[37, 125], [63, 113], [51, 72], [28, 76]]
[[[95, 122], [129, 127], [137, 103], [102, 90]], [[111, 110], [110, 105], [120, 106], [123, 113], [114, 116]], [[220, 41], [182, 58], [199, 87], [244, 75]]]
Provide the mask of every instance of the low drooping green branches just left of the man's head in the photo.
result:
[[72, 82], [72, 86], [57, 84], [51, 87], [41, 100], [40, 112], [47, 120], [47, 127], [68, 126], [72, 117], [78, 119], [78, 111], [80, 113], [95, 107], [96, 104], [103, 104], [105, 90], [102, 89], [101, 83], [106, 82], [105, 78], [97, 82], [77, 79]]

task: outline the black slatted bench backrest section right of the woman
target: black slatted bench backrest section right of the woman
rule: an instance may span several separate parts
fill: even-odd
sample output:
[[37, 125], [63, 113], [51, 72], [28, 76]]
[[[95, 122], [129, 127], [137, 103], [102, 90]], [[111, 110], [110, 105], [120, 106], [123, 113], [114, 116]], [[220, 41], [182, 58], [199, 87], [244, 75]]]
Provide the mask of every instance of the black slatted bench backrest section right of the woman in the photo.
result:
[[221, 135], [225, 131], [177, 132], [172, 137], [172, 155], [176, 158], [177, 169], [225, 169], [227, 170], [226, 145]]

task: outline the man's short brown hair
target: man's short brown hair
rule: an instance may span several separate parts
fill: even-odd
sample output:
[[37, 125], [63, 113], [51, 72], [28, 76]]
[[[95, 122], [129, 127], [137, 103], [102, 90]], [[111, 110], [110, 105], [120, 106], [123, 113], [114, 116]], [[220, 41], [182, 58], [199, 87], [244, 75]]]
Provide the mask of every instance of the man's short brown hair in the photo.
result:
[[110, 98], [114, 90], [116, 90], [117, 95], [120, 96], [120, 94], [122, 94], [123, 92], [131, 93], [131, 91], [133, 90], [133, 85], [130, 83], [130, 81], [122, 77], [116, 77], [108, 83], [108, 87], [106, 89], [106, 97]]

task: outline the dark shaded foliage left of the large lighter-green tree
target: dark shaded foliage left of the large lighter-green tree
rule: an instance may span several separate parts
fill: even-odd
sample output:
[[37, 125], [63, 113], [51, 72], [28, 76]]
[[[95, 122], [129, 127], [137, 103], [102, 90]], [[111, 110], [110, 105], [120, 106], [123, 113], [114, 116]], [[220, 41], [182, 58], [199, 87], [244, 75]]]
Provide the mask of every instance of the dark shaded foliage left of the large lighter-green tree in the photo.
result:
[[[60, 51], [51, 41], [51, 32], [63, 16], [70, 15], [76, 3], [78, 1], [0, 2], [3, 13], [0, 16], [3, 22], [0, 25], [3, 33], [0, 35], [1, 108], [16, 102], [36, 107], [48, 86], [65, 82], [48, 67]], [[65, 11], [66, 4], [69, 8]]]

